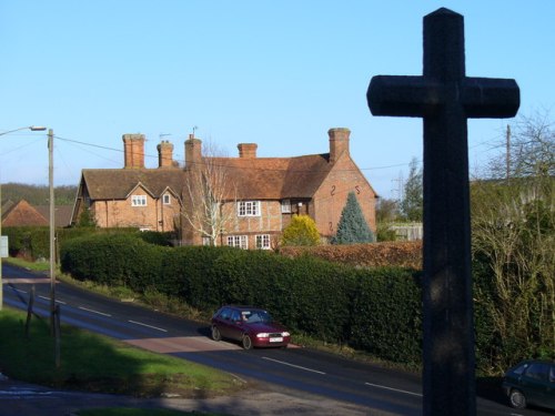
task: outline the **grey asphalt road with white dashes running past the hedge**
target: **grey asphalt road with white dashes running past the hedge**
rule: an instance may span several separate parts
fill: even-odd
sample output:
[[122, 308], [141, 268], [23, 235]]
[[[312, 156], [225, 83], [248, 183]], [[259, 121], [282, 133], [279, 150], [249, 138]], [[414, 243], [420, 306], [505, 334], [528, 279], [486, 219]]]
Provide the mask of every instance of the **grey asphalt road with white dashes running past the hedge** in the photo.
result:
[[[19, 308], [27, 308], [34, 285], [33, 310], [49, 315], [50, 281], [43, 275], [4, 264], [3, 284], [4, 304]], [[329, 409], [333, 403], [336, 407], [332, 414], [422, 414], [421, 379], [413, 374], [295, 346], [243, 351], [234, 343], [212, 341], [205, 324], [109, 300], [64, 283], [56, 285], [56, 298], [64, 323], [226, 371], [263, 387], [266, 394], [289, 397], [290, 404], [310, 398], [314, 409], [316, 403], [329, 403]], [[258, 414], [274, 414], [268, 407], [271, 403], [264, 406], [266, 412]], [[515, 412], [502, 397], [478, 397], [478, 414], [545, 415], [536, 409]]]

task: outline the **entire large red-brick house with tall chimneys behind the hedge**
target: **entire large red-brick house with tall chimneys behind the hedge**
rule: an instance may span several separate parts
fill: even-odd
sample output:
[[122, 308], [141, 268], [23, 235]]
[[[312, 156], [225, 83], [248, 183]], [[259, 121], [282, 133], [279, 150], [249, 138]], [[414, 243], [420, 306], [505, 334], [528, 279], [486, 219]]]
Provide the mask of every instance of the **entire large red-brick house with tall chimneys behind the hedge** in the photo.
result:
[[190, 135], [184, 168], [173, 161], [173, 145], [162, 142], [158, 169], [144, 168], [144, 135], [124, 134], [124, 169], [82, 171], [72, 223], [89, 209], [99, 226], [179, 230], [182, 244], [206, 244], [184, 217], [193, 209], [191, 184], [199, 182], [192, 177], [211, 164], [225, 171], [229, 185], [219, 210], [230, 221], [219, 245], [270, 248], [294, 214], [310, 215], [330, 239], [351, 191], [375, 231], [377, 195], [351, 159], [350, 134], [331, 129], [329, 153], [294, 158], [258, 158], [254, 143], [238, 144], [238, 158], [203, 155], [202, 141]]

